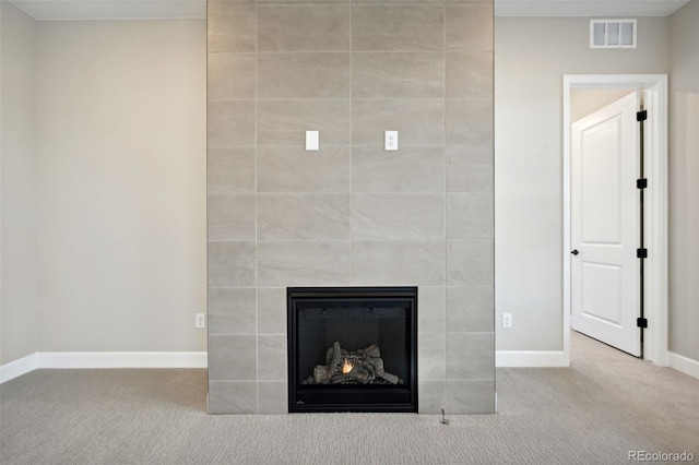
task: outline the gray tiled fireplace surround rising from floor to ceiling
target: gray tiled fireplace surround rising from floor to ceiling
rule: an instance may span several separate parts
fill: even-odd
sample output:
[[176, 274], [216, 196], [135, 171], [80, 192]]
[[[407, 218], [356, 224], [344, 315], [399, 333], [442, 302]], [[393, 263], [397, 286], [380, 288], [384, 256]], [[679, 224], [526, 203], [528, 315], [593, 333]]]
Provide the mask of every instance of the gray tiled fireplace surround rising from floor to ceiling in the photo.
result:
[[209, 0], [208, 25], [210, 412], [287, 412], [287, 286], [415, 285], [419, 412], [494, 412], [493, 1]]

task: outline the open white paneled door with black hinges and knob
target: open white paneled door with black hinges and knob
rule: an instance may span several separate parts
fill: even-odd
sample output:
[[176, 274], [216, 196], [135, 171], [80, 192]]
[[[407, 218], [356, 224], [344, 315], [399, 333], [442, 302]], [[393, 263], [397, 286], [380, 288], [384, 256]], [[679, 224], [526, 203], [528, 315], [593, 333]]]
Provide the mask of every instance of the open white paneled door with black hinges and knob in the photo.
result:
[[639, 317], [639, 97], [571, 130], [571, 325], [635, 356]]

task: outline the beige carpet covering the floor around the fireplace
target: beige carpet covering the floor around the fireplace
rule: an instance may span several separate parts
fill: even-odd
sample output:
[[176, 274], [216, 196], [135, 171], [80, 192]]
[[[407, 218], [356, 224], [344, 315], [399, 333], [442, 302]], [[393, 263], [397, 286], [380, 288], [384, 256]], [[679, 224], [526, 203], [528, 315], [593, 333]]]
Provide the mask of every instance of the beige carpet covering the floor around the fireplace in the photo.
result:
[[0, 386], [2, 464], [628, 463], [694, 453], [699, 380], [573, 334], [569, 369], [498, 369], [497, 415], [209, 416], [205, 370], [37, 370]]

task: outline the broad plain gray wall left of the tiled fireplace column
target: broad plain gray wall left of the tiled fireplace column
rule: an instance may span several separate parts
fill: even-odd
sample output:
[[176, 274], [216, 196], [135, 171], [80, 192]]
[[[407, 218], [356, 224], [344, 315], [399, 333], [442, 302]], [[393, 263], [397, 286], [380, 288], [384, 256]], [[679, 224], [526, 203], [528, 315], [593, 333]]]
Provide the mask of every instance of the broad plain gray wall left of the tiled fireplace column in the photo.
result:
[[205, 37], [38, 23], [40, 350], [205, 350]]

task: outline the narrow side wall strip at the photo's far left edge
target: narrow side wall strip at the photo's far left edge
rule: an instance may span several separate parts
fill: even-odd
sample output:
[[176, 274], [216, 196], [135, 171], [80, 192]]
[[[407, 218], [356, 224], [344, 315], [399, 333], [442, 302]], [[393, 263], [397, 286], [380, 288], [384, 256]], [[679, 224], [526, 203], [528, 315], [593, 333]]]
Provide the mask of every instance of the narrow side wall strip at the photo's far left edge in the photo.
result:
[[36, 241], [36, 25], [13, 4], [0, 2], [2, 84], [0, 242], [2, 327], [0, 365], [38, 349]]

